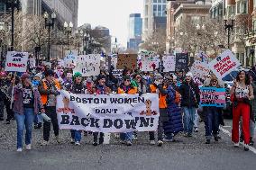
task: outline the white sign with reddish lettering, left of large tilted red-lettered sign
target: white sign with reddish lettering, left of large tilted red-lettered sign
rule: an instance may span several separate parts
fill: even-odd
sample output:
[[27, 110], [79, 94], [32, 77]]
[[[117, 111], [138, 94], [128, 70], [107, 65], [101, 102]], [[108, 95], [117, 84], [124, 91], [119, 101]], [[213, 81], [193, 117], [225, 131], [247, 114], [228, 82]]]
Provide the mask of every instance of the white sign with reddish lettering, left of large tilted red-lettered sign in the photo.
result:
[[190, 67], [190, 72], [193, 74], [193, 80], [199, 85], [204, 83], [210, 71], [211, 70], [208, 68], [207, 64], [199, 60], [196, 60], [192, 67]]

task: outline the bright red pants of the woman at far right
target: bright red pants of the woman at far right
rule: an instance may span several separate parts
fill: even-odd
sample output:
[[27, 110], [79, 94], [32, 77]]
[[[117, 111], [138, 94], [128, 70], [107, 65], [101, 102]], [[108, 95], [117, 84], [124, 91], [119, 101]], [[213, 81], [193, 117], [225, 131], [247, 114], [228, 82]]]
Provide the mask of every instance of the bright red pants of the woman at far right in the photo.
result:
[[233, 107], [233, 130], [232, 141], [239, 142], [239, 121], [242, 116], [242, 132], [244, 137], [244, 144], [250, 142], [250, 105], [246, 103], [238, 103]]

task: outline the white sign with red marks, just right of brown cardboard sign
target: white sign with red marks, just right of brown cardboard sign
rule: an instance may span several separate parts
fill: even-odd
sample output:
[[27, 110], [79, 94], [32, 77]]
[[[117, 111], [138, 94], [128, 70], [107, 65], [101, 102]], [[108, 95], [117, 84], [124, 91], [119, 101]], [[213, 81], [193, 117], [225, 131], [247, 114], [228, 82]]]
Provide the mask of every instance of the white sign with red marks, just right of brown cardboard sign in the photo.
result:
[[142, 71], [154, 71], [160, 65], [160, 56], [153, 53], [149, 55], [141, 54], [142, 58]]

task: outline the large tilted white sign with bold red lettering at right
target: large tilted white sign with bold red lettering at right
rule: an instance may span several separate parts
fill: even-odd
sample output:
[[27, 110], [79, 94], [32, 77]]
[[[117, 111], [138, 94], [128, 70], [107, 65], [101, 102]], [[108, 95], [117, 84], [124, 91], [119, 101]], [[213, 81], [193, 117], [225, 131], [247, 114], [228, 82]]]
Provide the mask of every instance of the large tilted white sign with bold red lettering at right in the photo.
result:
[[230, 49], [225, 50], [220, 56], [215, 58], [208, 64], [208, 67], [213, 71], [215, 76], [220, 80], [230, 74], [235, 68], [241, 64], [237, 58], [234, 57]]

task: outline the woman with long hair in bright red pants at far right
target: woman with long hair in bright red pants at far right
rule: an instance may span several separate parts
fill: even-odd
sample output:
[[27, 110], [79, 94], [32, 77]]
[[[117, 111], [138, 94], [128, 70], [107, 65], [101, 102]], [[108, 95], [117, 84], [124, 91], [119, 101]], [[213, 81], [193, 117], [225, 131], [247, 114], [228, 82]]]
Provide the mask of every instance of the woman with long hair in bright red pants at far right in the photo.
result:
[[249, 150], [250, 143], [250, 101], [254, 98], [249, 75], [240, 71], [233, 81], [231, 89], [231, 100], [233, 101], [233, 130], [232, 141], [234, 147], [239, 147], [239, 121], [242, 116], [242, 132], [244, 135], [244, 150]]

